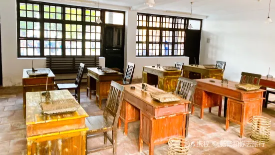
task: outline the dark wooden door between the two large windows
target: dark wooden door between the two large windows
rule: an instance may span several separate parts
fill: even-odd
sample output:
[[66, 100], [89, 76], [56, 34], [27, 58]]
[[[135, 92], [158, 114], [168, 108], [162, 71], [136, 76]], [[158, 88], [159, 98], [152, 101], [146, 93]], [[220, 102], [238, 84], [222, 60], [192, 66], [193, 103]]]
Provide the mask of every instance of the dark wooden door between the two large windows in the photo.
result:
[[103, 56], [105, 67], [117, 67], [124, 73], [124, 27], [105, 25]]

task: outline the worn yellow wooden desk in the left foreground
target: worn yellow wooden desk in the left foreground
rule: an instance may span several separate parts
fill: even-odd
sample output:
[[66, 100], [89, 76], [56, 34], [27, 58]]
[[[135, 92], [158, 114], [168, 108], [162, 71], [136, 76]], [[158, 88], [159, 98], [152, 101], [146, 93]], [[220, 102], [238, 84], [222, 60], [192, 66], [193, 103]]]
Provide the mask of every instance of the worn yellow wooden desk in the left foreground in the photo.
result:
[[[39, 105], [41, 92], [26, 93], [27, 154], [85, 154], [85, 117], [80, 106], [75, 112], [44, 116]], [[50, 91], [51, 99], [73, 98], [68, 90]]]

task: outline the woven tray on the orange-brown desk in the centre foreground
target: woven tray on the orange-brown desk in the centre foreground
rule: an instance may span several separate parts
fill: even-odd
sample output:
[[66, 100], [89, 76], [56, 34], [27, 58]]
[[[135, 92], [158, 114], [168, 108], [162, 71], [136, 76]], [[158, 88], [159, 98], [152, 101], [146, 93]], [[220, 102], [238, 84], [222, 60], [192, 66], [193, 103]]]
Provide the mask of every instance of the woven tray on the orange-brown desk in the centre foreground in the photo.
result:
[[169, 93], [169, 92], [152, 92], [150, 93], [153, 100], [159, 102], [170, 102], [170, 101], [178, 101], [180, 98], [178, 96]]

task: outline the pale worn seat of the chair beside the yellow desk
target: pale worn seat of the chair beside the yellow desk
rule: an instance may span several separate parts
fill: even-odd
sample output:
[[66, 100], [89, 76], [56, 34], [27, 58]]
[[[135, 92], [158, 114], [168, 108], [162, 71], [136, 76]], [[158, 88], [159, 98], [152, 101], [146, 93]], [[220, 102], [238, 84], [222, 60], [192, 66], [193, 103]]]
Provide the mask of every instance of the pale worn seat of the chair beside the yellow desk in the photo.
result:
[[86, 126], [89, 127], [87, 133], [96, 133], [112, 130], [112, 122], [103, 115], [89, 116], [85, 118]]

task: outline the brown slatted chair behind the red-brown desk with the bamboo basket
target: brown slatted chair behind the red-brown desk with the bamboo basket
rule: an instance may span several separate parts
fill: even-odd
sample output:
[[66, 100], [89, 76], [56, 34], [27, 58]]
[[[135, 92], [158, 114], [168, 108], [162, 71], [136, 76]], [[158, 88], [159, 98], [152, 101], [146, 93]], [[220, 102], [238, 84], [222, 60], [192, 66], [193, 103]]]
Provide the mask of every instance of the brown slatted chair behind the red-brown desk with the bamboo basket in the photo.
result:
[[[260, 84], [261, 74], [242, 72], [242, 77], [240, 80], [240, 84], [249, 83], [249, 84]], [[225, 97], [225, 108], [224, 108], [224, 117], [226, 117], [227, 110], [227, 97]]]

